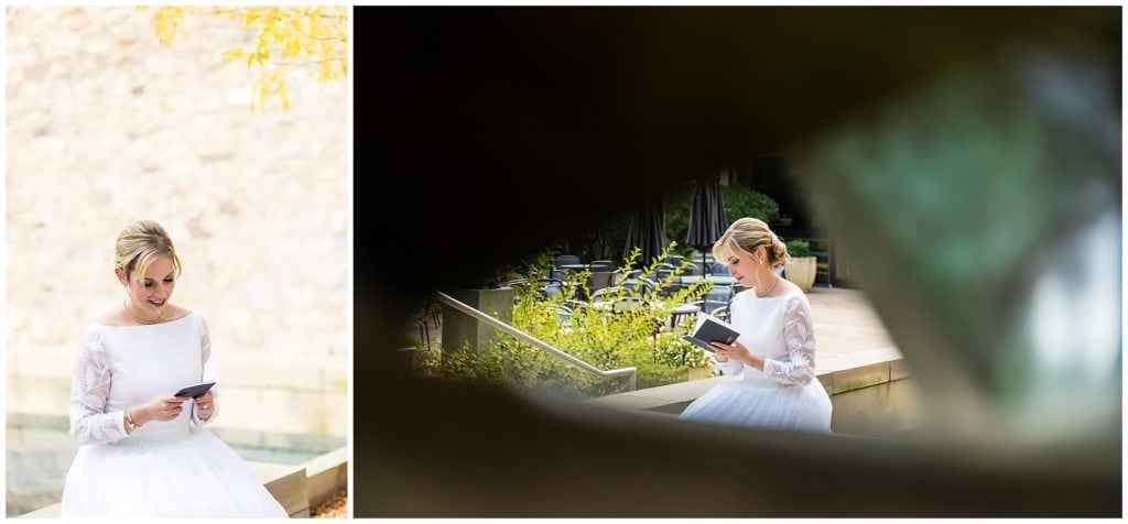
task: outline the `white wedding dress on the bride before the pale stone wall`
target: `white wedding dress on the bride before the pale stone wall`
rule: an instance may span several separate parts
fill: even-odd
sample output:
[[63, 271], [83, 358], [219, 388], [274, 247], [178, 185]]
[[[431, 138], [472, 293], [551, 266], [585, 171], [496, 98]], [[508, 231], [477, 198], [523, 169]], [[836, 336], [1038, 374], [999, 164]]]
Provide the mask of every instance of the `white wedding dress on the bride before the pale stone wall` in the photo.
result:
[[204, 428], [219, 414], [218, 387], [208, 423], [190, 401], [177, 418], [126, 435], [126, 407], [214, 380], [208, 325], [196, 313], [148, 326], [91, 323], [71, 382], [70, 432], [81, 445], [62, 516], [285, 518], [243, 459]]

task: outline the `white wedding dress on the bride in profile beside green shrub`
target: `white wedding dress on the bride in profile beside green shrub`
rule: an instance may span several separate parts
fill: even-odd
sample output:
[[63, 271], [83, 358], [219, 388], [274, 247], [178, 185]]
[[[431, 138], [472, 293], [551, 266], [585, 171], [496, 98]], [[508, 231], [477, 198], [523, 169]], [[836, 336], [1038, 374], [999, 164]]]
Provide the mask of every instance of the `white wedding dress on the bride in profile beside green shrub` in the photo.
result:
[[814, 376], [811, 304], [801, 291], [758, 297], [744, 291], [732, 299], [740, 343], [765, 357], [764, 371], [734, 359], [719, 362], [721, 383], [690, 403], [680, 418], [772, 429], [830, 433], [830, 397]]

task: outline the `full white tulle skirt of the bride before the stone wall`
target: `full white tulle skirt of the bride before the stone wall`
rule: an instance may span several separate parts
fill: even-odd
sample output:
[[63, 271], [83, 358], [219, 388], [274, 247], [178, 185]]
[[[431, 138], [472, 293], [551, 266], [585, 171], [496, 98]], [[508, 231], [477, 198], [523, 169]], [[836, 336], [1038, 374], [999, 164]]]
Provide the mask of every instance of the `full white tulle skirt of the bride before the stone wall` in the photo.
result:
[[79, 446], [62, 516], [288, 517], [223, 441], [197, 427], [164, 432]]

